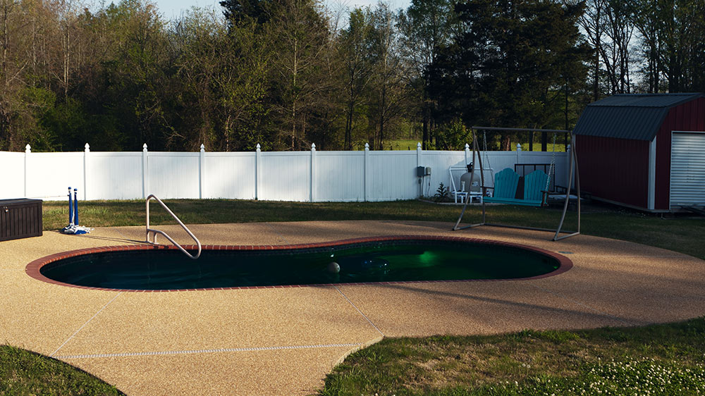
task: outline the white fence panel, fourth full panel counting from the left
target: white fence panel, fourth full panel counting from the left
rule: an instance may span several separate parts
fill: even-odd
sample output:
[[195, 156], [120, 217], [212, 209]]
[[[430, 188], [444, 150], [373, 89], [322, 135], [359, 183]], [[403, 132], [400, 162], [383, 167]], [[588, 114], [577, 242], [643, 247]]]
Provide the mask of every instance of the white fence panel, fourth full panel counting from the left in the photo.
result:
[[255, 153], [206, 153], [204, 198], [255, 199]]

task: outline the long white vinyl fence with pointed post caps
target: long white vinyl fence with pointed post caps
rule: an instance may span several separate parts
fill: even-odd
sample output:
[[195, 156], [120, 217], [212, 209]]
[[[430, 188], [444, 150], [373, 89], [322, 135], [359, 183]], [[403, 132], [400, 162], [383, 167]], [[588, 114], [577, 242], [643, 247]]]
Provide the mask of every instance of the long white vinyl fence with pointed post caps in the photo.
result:
[[[367, 145], [366, 145], [367, 146]], [[556, 182], [565, 185], [564, 152], [488, 151], [482, 154], [486, 185], [492, 174], [515, 163], [556, 161]], [[555, 155], [555, 156], [554, 156]], [[488, 161], [489, 160], [489, 161]], [[450, 184], [448, 169], [472, 161], [472, 151], [310, 151], [209, 153], [83, 152], [25, 153], [0, 151], [4, 172], [0, 199], [63, 199], [68, 186], [81, 199], [229, 198], [298, 202], [393, 201], [433, 195]], [[489, 162], [489, 166], [488, 166]], [[417, 177], [417, 166], [431, 175]], [[462, 170], [453, 171], [455, 185]], [[422, 181], [422, 182], [421, 182]]]

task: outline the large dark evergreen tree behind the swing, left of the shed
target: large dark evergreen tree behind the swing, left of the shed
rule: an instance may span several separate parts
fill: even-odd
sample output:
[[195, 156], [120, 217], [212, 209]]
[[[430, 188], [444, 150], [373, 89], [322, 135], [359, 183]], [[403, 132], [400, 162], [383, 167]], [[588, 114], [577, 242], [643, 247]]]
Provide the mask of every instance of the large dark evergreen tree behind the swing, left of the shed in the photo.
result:
[[[466, 125], [551, 126], [561, 89], [587, 75], [591, 49], [577, 29], [582, 5], [472, 0], [456, 11], [464, 32], [441, 50], [429, 73], [437, 117], [460, 115]], [[502, 149], [510, 149], [510, 137], [500, 136]]]

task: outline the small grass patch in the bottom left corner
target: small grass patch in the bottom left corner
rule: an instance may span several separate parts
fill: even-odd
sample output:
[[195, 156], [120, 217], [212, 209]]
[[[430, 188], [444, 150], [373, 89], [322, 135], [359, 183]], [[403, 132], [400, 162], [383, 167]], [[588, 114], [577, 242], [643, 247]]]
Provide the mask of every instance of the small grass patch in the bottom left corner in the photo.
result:
[[0, 395], [124, 395], [85, 371], [25, 349], [0, 345]]

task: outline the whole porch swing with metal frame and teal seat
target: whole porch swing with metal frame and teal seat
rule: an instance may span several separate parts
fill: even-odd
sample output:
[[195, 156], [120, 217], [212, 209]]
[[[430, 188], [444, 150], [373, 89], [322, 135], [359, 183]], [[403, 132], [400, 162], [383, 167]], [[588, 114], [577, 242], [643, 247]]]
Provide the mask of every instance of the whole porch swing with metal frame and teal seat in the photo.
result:
[[[537, 231], [547, 231], [550, 233], [555, 233], [553, 235], [552, 240], [557, 241], [557, 240], [562, 240], [568, 237], [572, 237], [575, 235], [580, 234], [580, 176], [578, 174], [577, 170], [577, 160], [575, 157], [575, 139], [574, 135], [572, 135], [572, 149], [570, 150], [570, 169], [569, 169], [569, 177], [568, 177], [568, 187], [567, 187], [567, 192], [565, 194], [565, 200], [563, 202], [563, 213], [560, 216], [560, 222], [558, 223], [558, 227], [556, 229], [553, 228], [537, 228], [537, 227], [527, 227], [527, 226], [522, 226], [522, 225], [508, 225], [508, 224], [500, 224], [500, 223], [487, 223], [486, 222], [486, 207], [485, 204], [486, 202], [495, 202], [495, 203], [501, 203], [501, 204], [515, 204], [515, 205], [522, 205], [522, 206], [547, 206], [548, 203], [548, 188], [551, 185], [551, 174], [553, 173], [555, 175], [555, 172], [553, 171], [555, 165], [556, 165], [556, 133], [558, 132], [565, 132], [568, 133], [570, 131], [567, 130], [549, 130], [549, 129], [527, 129], [527, 128], [491, 128], [491, 127], [478, 127], [478, 126], [473, 126], [471, 128], [472, 130], [472, 163], [477, 163], [479, 164], [479, 173], [480, 173], [480, 182], [482, 185], [482, 194], [484, 196], [487, 195], [487, 190], [494, 190], [494, 194], [492, 194], [492, 197], [486, 197], [482, 200], [482, 222], [481, 223], [474, 223], [470, 225], [465, 225], [464, 227], [459, 227], [460, 221], [462, 221], [462, 217], [465, 215], [465, 209], [467, 209], [467, 204], [470, 202], [470, 199], [465, 199], [465, 204], [462, 206], [462, 211], [460, 212], [460, 216], [458, 217], [458, 221], [455, 222], [455, 226], [453, 226], [453, 231], [457, 230], [465, 230], [466, 228], [475, 228], [479, 227], [480, 225], [489, 225], [489, 226], [494, 226], [494, 227], [505, 227], [505, 228], [518, 228], [522, 230], [537, 230]], [[487, 187], [484, 182], [484, 168], [482, 166], [482, 157], [479, 154], [479, 147], [477, 144], [477, 130], [482, 130], [485, 134], [487, 130], [501, 130], [501, 131], [508, 131], [508, 132], [553, 132], [553, 154], [551, 156], [551, 164], [548, 168], [548, 174], [544, 173], [543, 171], [534, 171], [533, 173], [530, 173], [529, 175], [525, 175], [524, 178], [524, 192], [523, 192], [523, 197], [516, 197], [516, 192], [517, 192], [517, 187], [519, 183], [520, 176], [515, 173], [510, 168], [505, 168], [503, 171], [496, 173], [494, 175], [494, 185], [492, 187]], [[485, 151], [485, 156], [486, 160], [489, 162], [489, 157], [487, 157], [487, 140], [486, 140], [486, 135], [484, 135], [484, 151]], [[477, 162], [475, 162], [477, 161]], [[474, 176], [474, 171], [475, 168], [473, 167], [471, 171], [471, 178]], [[565, 221], [565, 213], [568, 211], [568, 204], [570, 202], [570, 187], [573, 184], [573, 179], [575, 178], [575, 189], [576, 189], [576, 194], [577, 194], [577, 230], [575, 232], [571, 231], [563, 231], [563, 221]], [[471, 179], [472, 180], [472, 179]], [[554, 180], [555, 184], [555, 180]], [[544, 190], [541, 190], [541, 188], [544, 188]], [[561, 233], [566, 234], [566, 235], [560, 235]]]

